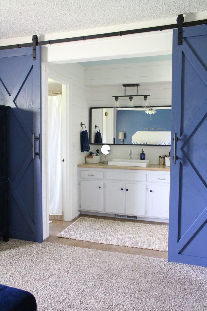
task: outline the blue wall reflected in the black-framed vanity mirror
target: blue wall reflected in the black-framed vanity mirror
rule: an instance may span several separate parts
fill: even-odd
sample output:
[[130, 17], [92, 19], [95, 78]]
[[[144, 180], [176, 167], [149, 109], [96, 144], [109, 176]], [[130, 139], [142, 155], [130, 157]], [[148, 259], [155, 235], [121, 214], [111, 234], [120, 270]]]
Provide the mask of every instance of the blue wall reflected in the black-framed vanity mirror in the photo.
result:
[[131, 144], [137, 131], [171, 131], [171, 109], [157, 110], [151, 119], [145, 111], [117, 110], [116, 143], [120, 143], [119, 132], [124, 132], [124, 144]]

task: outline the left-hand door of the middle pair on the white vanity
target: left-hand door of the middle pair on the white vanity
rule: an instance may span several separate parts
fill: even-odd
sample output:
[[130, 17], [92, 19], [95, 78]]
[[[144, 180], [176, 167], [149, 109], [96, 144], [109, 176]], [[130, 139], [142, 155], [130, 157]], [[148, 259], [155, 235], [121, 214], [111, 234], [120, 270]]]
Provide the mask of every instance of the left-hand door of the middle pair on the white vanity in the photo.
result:
[[124, 214], [124, 183], [106, 183], [105, 211], [112, 214]]

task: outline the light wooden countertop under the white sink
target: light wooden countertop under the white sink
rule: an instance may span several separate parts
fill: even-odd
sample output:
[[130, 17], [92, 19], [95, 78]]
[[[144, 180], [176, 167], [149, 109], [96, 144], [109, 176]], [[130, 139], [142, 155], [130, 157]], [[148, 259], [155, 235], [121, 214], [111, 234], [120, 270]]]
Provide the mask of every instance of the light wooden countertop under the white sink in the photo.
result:
[[108, 165], [103, 163], [83, 163], [78, 164], [78, 167], [93, 168], [93, 169], [133, 169], [133, 170], [142, 170], [142, 171], [170, 171], [170, 166], [150, 164], [146, 167], [141, 166], [117, 166], [117, 165]]

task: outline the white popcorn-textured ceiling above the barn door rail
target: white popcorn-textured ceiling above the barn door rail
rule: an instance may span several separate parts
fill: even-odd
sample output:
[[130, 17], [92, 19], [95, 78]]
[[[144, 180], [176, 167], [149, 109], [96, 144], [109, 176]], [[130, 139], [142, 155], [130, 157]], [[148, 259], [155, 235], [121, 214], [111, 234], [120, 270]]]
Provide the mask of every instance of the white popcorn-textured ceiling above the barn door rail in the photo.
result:
[[207, 10], [206, 0], [0, 0], [0, 39], [115, 26]]

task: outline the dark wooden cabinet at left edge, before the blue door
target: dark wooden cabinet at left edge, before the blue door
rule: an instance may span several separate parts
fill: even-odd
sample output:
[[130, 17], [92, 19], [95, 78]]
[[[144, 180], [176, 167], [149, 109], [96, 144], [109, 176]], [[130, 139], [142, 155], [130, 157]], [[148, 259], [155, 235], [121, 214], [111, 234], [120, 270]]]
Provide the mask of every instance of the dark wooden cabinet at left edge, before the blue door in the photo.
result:
[[9, 240], [7, 208], [7, 110], [10, 107], [0, 105], [0, 236]]

